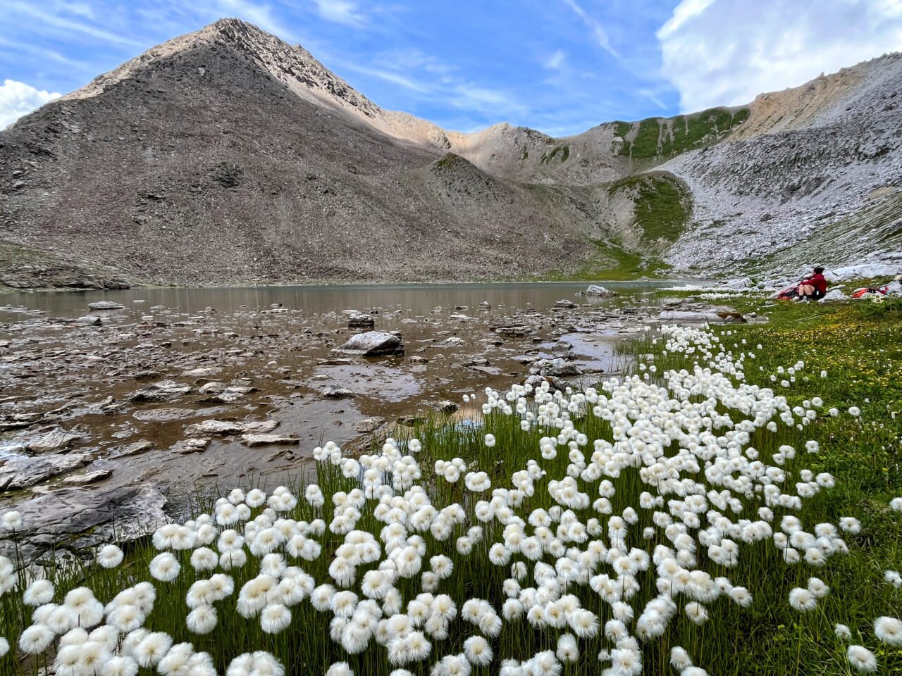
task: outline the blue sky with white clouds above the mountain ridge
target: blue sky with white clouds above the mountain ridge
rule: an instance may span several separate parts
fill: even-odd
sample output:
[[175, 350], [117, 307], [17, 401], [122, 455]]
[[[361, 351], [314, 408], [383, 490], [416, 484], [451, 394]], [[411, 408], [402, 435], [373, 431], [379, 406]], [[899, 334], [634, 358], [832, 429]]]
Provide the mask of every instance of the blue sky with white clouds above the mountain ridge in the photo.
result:
[[902, 0], [4, 0], [0, 128], [223, 16], [299, 42], [383, 107], [467, 132], [737, 105], [902, 49]]

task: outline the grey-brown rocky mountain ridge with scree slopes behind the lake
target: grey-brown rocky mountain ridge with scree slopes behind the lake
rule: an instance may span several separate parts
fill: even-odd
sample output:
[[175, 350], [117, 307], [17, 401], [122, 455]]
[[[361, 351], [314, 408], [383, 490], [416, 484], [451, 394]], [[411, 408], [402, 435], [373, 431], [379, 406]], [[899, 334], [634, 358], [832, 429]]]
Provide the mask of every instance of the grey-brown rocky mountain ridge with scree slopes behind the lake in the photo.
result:
[[[804, 245], [824, 214], [897, 190], [900, 64], [562, 138], [508, 123], [464, 134], [384, 110], [308, 50], [223, 19], [0, 132], [0, 240], [78, 260], [62, 284], [0, 260], [0, 280], [512, 279], [615, 270], [624, 256], [716, 272]], [[875, 112], [880, 92], [890, 107]], [[796, 186], [800, 162], [844, 183], [809, 167]], [[731, 228], [738, 258], [723, 247]]]

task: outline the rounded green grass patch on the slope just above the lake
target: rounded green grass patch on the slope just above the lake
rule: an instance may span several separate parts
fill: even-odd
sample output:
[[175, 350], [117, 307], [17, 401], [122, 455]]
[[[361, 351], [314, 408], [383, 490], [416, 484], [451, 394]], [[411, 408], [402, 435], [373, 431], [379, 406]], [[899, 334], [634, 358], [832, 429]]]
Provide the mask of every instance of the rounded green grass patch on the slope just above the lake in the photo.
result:
[[682, 182], [663, 172], [636, 174], [614, 181], [608, 195], [626, 191], [633, 200], [635, 225], [641, 242], [675, 242], [686, 228], [692, 198]]

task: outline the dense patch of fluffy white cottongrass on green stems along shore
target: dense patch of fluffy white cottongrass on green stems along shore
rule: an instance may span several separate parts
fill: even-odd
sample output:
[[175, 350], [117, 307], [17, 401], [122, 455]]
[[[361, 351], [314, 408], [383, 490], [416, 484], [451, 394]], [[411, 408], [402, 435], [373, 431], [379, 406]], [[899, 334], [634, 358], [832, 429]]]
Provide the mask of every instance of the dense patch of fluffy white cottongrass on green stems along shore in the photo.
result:
[[46, 580], [0, 562], [3, 673], [701, 676], [778, 640], [766, 671], [894, 672], [902, 580], [837, 586], [861, 522], [808, 469], [818, 420], [860, 411], [749, 384], [764, 348], [724, 335], [664, 327], [627, 378], [488, 389], [472, 424], [358, 458], [327, 443], [316, 483], [234, 489]]

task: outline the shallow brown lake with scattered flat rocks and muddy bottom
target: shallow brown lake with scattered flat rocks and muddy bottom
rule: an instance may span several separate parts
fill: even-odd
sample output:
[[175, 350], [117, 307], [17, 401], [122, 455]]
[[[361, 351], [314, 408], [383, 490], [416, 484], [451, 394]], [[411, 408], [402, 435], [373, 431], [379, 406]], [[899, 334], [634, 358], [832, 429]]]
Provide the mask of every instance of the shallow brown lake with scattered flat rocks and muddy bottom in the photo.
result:
[[[23, 510], [38, 546], [89, 529], [119, 537], [196, 488], [303, 475], [326, 441], [363, 449], [453, 408], [443, 402], [468, 416], [467, 393], [537, 373], [591, 385], [622, 369], [617, 343], [654, 321], [673, 300], [655, 292], [673, 283], [608, 283], [612, 298], [577, 295], [585, 283], [6, 295], [0, 507]], [[123, 308], [90, 310], [97, 301]], [[404, 353], [335, 352], [369, 330], [348, 327], [351, 311], [400, 334]], [[233, 425], [211, 433], [211, 420]], [[248, 424], [279, 443], [249, 442]]]

